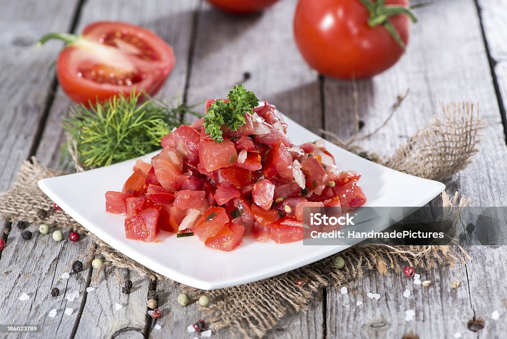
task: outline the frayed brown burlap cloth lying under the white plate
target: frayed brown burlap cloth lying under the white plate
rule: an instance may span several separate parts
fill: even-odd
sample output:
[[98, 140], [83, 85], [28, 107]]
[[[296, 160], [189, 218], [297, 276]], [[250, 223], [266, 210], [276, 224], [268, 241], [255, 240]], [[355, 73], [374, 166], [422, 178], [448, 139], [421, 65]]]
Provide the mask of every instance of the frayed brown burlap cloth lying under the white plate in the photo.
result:
[[[397, 105], [400, 103], [399, 99]], [[395, 108], [396, 105], [393, 111]], [[405, 145], [385, 159], [374, 152], [362, 150], [354, 143], [360, 140], [356, 136], [343, 142], [336, 136], [327, 134], [338, 145], [398, 171], [443, 180], [470, 162], [470, 157], [477, 152], [482, 127], [477, 106], [469, 103], [449, 104], [442, 107], [440, 118], [435, 117], [427, 127], [419, 130]], [[11, 221], [24, 220], [35, 224], [45, 222], [87, 233], [94, 239], [90, 253], [87, 254], [89, 259], [101, 256], [105, 259], [104, 267], [124, 267], [150, 279], [169, 280], [96, 239], [63, 211], [54, 211], [41, 218], [38, 211], [51, 211], [52, 201], [38, 188], [37, 182], [57, 175], [59, 173], [38, 164], [34, 158], [24, 162], [12, 189], [0, 196], [0, 214]], [[467, 203], [468, 199], [457, 193], [452, 196], [442, 193], [442, 205], [449, 213], [457, 215]], [[231, 333], [261, 337], [286, 314], [305, 310], [315, 292], [324, 286], [343, 285], [360, 278], [369, 270], [386, 273], [392, 269], [399, 272], [407, 264], [429, 269], [439, 264], [464, 262], [466, 257], [457, 245], [354, 246], [340, 255], [345, 259], [345, 267], [342, 269], [334, 268], [332, 258], [329, 257], [259, 282], [206, 291], [212, 299], [210, 306], [202, 309], [206, 322], [213, 330], [229, 327]], [[300, 288], [296, 280], [303, 277], [309, 281]], [[192, 297], [204, 293], [188, 286], [179, 286]]]

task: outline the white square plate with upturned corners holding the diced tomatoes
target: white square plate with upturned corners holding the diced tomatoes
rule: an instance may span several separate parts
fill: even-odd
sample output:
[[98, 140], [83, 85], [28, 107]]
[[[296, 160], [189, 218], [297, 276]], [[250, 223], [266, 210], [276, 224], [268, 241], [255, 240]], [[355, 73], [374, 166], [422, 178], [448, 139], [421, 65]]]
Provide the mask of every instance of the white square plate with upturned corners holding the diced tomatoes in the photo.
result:
[[[320, 139], [318, 135], [285, 117], [288, 136], [296, 144]], [[378, 165], [326, 142], [338, 169], [363, 174], [359, 184], [371, 207], [422, 207], [445, 185]], [[154, 152], [141, 157], [150, 161]], [[244, 239], [231, 252], [205, 247], [197, 236], [176, 238], [161, 231], [158, 243], [125, 239], [124, 217], [105, 212], [104, 193], [119, 191], [131, 175], [135, 159], [91, 171], [48, 178], [39, 187], [56, 204], [98, 238], [135, 261], [177, 282], [211, 290], [273, 277], [315, 262], [349, 246], [303, 246], [303, 242], [278, 245]], [[386, 224], [385, 227], [389, 225]]]

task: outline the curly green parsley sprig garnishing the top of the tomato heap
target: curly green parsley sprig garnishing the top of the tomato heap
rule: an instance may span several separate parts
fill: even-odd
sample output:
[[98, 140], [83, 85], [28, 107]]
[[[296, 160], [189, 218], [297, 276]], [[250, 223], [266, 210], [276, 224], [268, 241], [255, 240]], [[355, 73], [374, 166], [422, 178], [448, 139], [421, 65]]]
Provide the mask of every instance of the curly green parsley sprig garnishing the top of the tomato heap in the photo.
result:
[[247, 91], [243, 85], [236, 85], [227, 94], [230, 100], [216, 100], [209, 107], [204, 116], [204, 129], [211, 139], [217, 143], [224, 141], [222, 125], [231, 130], [237, 130], [245, 123], [243, 115], [252, 113], [252, 109], [259, 104], [259, 99], [252, 91]]

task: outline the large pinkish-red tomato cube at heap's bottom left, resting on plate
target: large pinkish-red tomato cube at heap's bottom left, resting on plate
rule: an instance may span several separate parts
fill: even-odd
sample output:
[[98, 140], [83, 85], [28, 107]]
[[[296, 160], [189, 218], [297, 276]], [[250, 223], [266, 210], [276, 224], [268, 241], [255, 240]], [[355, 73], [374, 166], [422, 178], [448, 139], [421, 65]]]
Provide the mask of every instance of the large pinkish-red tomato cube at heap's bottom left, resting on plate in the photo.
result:
[[152, 242], [155, 240], [158, 228], [160, 207], [152, 207], [140, 214], [125, 219], [125, 236], [127, 239]]

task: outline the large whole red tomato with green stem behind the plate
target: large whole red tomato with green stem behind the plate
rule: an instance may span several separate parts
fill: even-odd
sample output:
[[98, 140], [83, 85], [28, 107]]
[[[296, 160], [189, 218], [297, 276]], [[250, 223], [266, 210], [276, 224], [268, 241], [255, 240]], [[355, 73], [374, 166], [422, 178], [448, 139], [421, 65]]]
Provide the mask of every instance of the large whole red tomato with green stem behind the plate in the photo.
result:
[[[369, 78], [391, 67], [403, 55], [410, 19], [416, 18], [408, 0], [382, 3], [299, 0], [294, 35], [306, 62], [319, 73], [340, 79]], [[386, 25], [395, 32], [390, 33]], [[401, 40], [396, 41], [396, 34]]]

